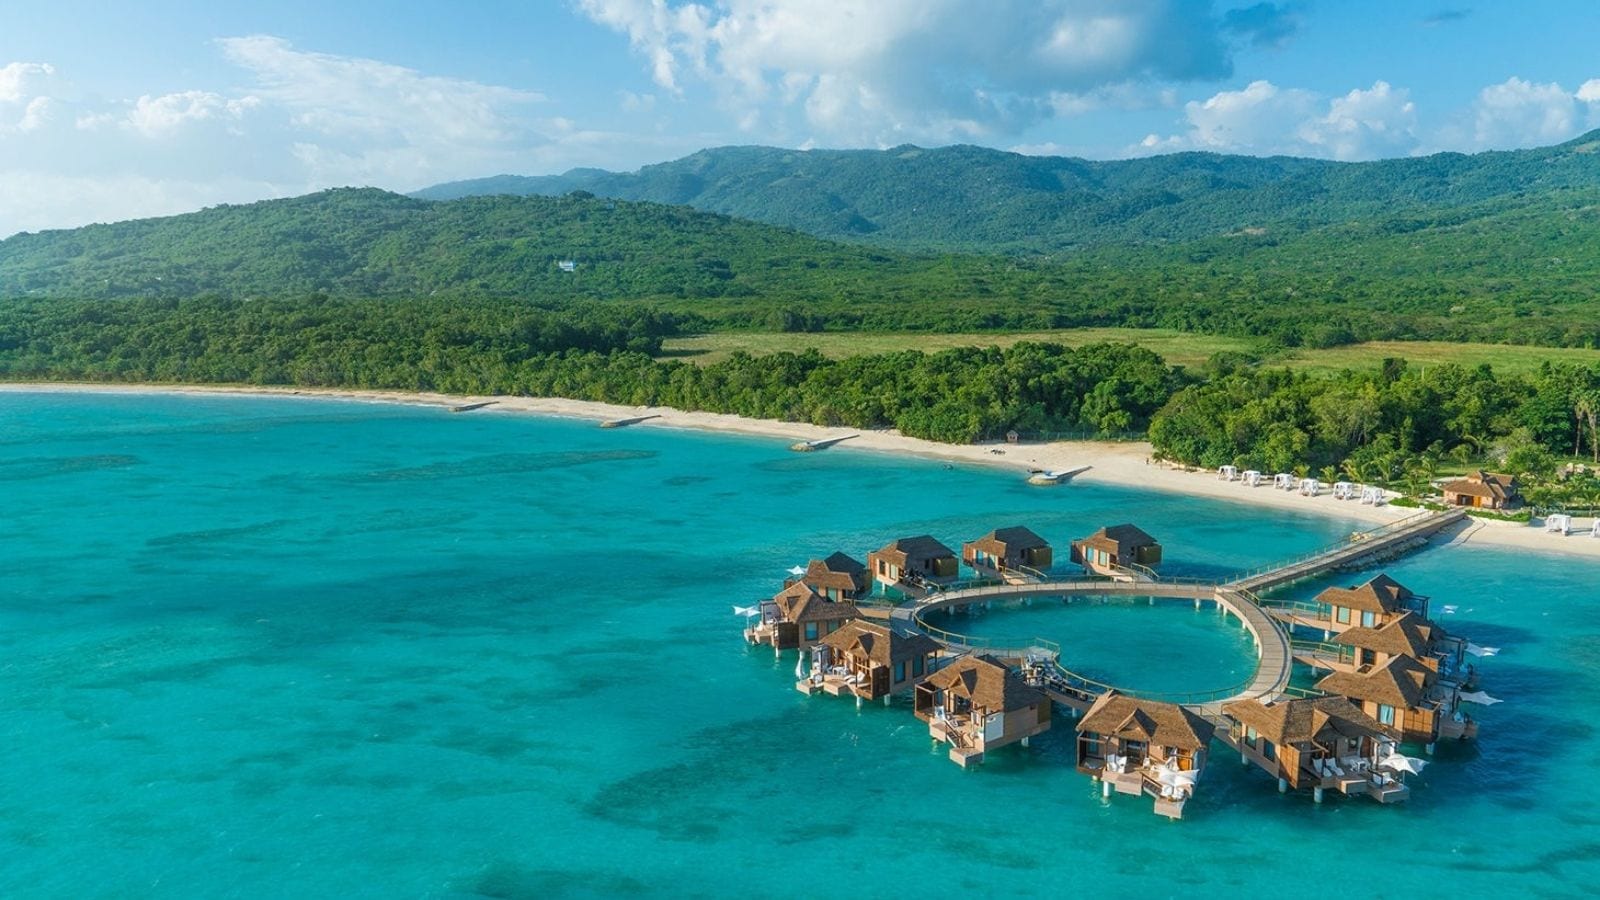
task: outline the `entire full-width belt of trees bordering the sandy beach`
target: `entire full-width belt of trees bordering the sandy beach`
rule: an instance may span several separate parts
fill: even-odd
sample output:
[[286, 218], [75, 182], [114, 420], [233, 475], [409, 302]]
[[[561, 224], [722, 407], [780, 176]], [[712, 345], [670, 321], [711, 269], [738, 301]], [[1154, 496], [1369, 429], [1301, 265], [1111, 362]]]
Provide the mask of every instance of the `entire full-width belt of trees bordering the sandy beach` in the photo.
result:
[[27, 299], [0, 304], [0, 378], [341, 386], [667, 405], [947, 442], [1010, 429], [1147, 431], [1176, 461], [1426, 480], [1490, 461], [1538, 480], [1600, 461], [1600, 367], [1410, 367], [1309, 376], [1221, 354], [1202, 370], [1147, 349], [1019, 343], [827, 359], [650, 354], [682, 323], [643, 306], [504, 301]]

